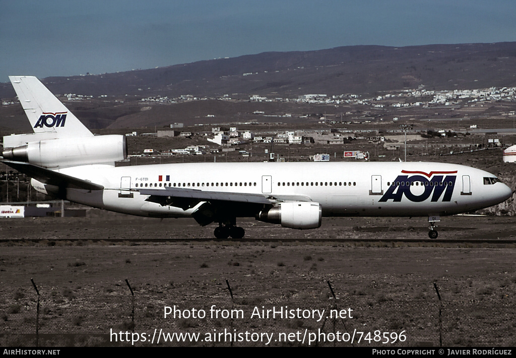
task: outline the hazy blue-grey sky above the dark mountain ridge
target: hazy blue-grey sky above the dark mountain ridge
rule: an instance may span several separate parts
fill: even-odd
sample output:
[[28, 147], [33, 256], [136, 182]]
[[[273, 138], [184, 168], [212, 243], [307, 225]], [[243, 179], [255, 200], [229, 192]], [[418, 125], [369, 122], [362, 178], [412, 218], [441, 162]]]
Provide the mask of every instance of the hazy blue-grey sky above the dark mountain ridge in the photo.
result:
[[514, 0], [0, 0], [0, 82], [269, 51], [516, 41]]

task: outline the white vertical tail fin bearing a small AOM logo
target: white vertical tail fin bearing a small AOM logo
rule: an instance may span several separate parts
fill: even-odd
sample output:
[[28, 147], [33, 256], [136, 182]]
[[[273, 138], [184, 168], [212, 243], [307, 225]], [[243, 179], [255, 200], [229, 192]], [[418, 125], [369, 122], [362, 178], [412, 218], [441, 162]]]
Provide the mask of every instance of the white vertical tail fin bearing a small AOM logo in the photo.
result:
[[93, 134], [34, 76], [9, 76], [34, 133], [53, 132], [57, 138]]

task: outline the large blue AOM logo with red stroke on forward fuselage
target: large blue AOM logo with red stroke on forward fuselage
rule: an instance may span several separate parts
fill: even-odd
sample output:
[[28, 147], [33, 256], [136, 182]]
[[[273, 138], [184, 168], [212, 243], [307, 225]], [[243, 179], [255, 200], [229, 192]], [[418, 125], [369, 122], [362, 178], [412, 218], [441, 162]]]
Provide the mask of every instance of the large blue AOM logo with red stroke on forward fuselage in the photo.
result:
[[428, 198], [431, 198], [431, 202], [437, 202], [441, 197], [443, 202], [451, 200], [457, 175], [444, 176], [436, 174], [457, 174], [456, 170], [430, 173], [402, 170], [401, 173], [423, 175], [398, 175], [379, 200], [380, 202], [386, 202], [391, 199], [393, 202], [400, 202], [404, 196], [409, 201], [415, 203], [421, 203]]

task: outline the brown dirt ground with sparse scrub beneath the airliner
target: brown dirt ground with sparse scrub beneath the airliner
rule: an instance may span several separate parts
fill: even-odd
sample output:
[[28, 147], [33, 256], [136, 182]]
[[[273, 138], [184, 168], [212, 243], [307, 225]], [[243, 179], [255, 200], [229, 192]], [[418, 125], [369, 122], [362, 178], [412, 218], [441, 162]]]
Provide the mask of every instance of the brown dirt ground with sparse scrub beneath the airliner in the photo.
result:
[[[189, 219], [99, 210], [87, 218], [6, 219], [0, 222], [0, 346], [36, 345], [31, 278], [40, 293], [39, 346], [130, 346], [119, 333], [131, 340], [133, 331], [135, 346], [230, 346], [229, 336], [217, 336], [224, 332], [236, 335], [233, 346], [308, 346], [311, 334], [317, 334], [311, 346], [350, 346], [349, 338], [335, 340], [337, 332], [343, 339], [354, 333], [354, 346], [439, 346], [440, 302], [443, 346], [514, 346], [513, 220], [442, 218], [439, 241], [432, 242], [426, 218], [329, 218], [309, 231], [244, 221], [246, 238], [239, 241], [212, 240], [213, 225]], [[335, 304], [346, 317], [329, 318], [323, 327], [318, 313], [325, 310], [326, 317]], [[175, 318], [164, 317], [166, 306], [179, 310]], [[232, 308], [233, 319], [221, 318]], [[261, 316], [273, 308], [294, 311]], [[206, 316], [193, 318], [194, 311]], [[307, 312], [315, 317], [303, 318]], [[150, 343], [155, 330], [199, 333], [202, 341], [162, 336]], [[380, 341], [384, 332], [389, 343]]]

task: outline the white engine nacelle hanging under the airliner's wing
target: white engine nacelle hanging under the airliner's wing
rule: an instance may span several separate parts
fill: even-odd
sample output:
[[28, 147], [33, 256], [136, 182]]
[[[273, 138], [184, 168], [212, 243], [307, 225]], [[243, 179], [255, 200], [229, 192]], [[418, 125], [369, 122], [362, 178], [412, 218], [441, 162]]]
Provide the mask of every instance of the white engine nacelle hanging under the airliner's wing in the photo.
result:
[[260, 211], [256, 219], [291, 229], [316, 229], [321, 225], [322, 207], [314, 202], [280, 203]]

